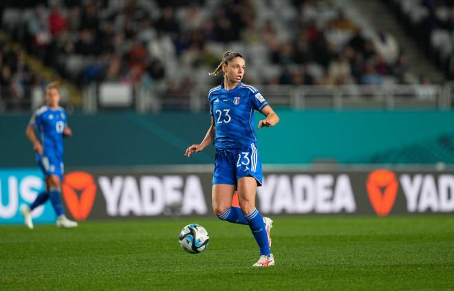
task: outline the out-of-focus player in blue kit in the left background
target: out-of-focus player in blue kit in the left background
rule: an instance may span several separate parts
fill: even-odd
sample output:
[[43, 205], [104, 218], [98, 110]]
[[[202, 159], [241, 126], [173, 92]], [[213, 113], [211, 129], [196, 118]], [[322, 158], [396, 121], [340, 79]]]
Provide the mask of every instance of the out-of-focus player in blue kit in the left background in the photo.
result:
[[[65, 109], [58, 106], [60, 93], [56, 83], [50, 83], [45, 90], [47, 105], [37, 109], [28, 124], [25, 133], [32, 142], [36, 151], [36, 160], [45, 177], [45, 191], [38, 194], [32, 204], [22, 205], [21, 213], [25, 218], [25, 225], [33, 228], [32, 211], [45, 203], [52, 202], [57, 215], [56, 225], [64, 228], [74, 228], [73, 222], [63, 213], [61, 202], [61, 181], [63, 180], [63, 137], [72, 136], [67, 126]], [[40, 140], [36, 138], [35, 129], [39, 131]]]

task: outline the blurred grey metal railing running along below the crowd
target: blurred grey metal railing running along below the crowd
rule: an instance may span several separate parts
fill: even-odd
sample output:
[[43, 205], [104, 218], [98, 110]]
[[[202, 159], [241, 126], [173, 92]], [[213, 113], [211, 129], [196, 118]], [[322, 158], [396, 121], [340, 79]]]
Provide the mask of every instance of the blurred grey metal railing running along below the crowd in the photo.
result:
[[[111, 87], [109, 87], [111, 86]], [[128, 87], [129, 86], [129, 87]], [[451, 110], [454, 83], [444, 85], [257, 85], [272, 107], [290, 109], [431, 109]], [[160, 89], [158, 89], [160, 88]], [[165, 87], [131, 87], [118, 83], [84, 87], [82, 109], [93, 114], [100, 109], [133, 109], [140, 113], [162, 110], [204, 111], [208, 109], [208, 86], [166, 92]], [[18, 98], [1, 90], [0, 111], [30, 111], [44, 103], [41, 87], [31, 87]], [[71, 107], [68, 90], [61, 88], [63, 106]]]

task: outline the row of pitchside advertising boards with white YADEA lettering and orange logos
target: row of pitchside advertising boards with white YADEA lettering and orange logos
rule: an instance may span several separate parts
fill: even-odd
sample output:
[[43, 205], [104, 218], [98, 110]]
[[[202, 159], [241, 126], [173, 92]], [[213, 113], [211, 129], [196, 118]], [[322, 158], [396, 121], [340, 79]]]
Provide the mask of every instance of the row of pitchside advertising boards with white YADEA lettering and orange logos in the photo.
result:
[[[62, 186], [66, 213], [78, 221], [213, 215], [212, 168], [71, 169]], [[32, 202], [43, 189], [41, 174], [34, 169], [1, 169], [0, 185], [0, 223], [22, 223], [19, 206]], [[454, 172], [266, 166], [257, 206], [265, 215], [454, 213]], [[48, 202], [33, 215], [37, 223], [55, 219]]]

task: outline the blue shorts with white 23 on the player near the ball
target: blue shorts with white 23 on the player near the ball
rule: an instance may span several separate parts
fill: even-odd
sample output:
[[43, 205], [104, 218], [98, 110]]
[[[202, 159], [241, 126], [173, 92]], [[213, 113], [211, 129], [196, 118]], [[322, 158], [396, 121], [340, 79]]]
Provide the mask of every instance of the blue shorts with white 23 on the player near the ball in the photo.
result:
[[236, 185], [239, 178], [247, 176], [255, 177], [257, 186], [261, 186], [263, 173], [256, 144], [249, 144], [244, 149], [216, 150], [213, 185]]

